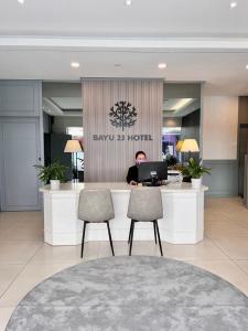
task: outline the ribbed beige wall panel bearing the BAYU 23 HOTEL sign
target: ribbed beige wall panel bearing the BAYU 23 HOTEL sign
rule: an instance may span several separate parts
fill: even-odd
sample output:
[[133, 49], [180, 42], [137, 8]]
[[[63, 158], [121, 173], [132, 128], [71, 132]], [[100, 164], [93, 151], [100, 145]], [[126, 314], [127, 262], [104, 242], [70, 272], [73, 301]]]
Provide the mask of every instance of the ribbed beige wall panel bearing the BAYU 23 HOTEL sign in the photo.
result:
[[[123, 181], [138, 150], [145, 151], [149, 160], [161, 160], [162, 79], [87, 78], [82, 88], [85, 181]], [[123, 131], [109, 120], [110, 107], [119, 100], [130, 102], [138, 113], [134, 126]], [[94, 140], [94, 135], [110, 135], [114, 140]], [[125, 140], [118, 141], [118, 135]], [[150, 135], [152, 140], [128, 140], [140, 135]]]

